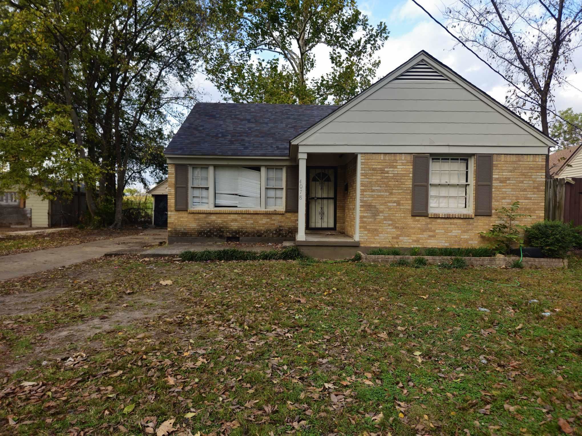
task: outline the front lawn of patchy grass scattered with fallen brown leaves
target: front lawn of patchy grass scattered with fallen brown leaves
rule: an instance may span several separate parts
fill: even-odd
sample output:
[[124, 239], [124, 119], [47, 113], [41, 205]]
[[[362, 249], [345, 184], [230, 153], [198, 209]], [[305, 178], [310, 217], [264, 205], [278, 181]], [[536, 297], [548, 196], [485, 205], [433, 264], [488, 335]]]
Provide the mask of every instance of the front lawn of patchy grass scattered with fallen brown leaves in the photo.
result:
[[581, 283], [129, 257], [8, 281], [0, 433], [576, 434]]

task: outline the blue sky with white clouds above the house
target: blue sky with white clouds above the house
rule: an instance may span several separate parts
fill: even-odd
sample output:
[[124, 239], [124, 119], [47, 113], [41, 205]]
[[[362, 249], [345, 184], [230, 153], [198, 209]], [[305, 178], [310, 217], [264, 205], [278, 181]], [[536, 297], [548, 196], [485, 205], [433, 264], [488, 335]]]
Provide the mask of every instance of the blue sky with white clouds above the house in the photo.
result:
[[[432, 16], [445, 22], [440, 12], [445, 3], [440, 0], [419, 0], [419, 3]], [[505, 100], [507, 85], [503, 78], [489, 70], [469, 50], [456, 45], [453, 37], [410, 0], [365, 0], [359, 1], [358, 6], [371, 24], [384, 22], [390, 31], [388, 41], [377, 53], [381, 58], [377, 78], [385, 76], [417, 52], [425, 50], [498, 101]], [[330, 63], [325, 47], [316, 48], [315, 53], [317, 65], [312, 75], [318, 77], [328, 72]], [[582, 50], [578, 54], [579, 63], [582, 64]], [[582, 73], [572, 73], [569, 81], [582, 89]], [[217, 89], [201, 74], [197, 77], [197, 83], [203, 91], [202, 101], [223, 101]], [[573, 88], [559, 90], [556, 93], [556, 109], [570, 107], [574, 112], [582, 112], [582, 92]]]

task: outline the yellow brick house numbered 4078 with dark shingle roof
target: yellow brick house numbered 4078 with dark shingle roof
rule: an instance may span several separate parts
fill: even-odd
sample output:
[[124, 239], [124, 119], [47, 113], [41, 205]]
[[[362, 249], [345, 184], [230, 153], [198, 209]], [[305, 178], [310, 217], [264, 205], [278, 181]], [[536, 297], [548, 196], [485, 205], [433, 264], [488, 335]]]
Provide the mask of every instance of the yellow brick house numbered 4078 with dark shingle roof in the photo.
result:
[[425, 51], [339, 107], [198, 103], [165, 150], [168, 240], [484, 245], [496, 208], [544, 219], [551, 146]]

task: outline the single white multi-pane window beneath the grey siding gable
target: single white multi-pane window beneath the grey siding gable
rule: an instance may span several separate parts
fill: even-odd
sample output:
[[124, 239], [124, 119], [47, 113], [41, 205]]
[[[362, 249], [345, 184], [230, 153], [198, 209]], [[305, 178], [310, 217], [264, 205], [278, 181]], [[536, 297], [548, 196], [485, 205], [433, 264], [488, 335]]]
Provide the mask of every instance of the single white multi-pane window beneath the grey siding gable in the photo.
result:
[[431, 157], [430, 210], [433, 212], [468, 212], [470, 192], [468, 157]]

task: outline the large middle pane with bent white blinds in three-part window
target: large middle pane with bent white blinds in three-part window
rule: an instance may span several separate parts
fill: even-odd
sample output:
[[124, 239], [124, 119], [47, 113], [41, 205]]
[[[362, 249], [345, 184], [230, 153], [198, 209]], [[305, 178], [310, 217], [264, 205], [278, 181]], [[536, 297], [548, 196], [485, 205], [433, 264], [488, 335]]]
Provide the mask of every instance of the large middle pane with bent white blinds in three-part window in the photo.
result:
[[261, 168], [217, 166], [214, 169], [215, 206], [260, 208]]

